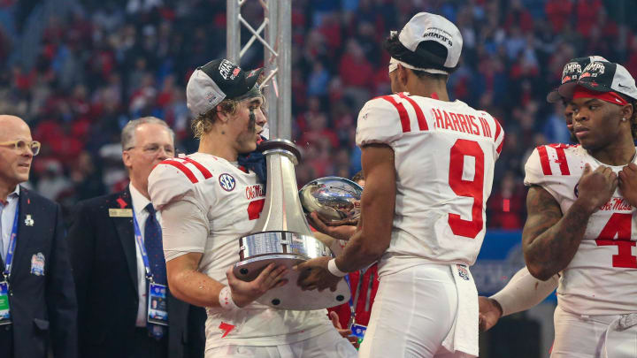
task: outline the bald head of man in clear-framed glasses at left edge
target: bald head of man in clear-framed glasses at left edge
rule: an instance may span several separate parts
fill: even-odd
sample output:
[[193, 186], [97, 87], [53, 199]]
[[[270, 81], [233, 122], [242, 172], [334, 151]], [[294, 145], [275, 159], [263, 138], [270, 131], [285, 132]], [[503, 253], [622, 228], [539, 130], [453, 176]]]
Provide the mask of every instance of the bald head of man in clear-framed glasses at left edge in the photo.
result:
[[[0, 115], [0, 200], [12, 192], [16, 185], [28, 180], [33, 152], [30, 149], [31, 130], [22, 118]], [[16, 148], [17, 141], [29, 145]], [[28, 148], [27, 148], [28, 147]]]

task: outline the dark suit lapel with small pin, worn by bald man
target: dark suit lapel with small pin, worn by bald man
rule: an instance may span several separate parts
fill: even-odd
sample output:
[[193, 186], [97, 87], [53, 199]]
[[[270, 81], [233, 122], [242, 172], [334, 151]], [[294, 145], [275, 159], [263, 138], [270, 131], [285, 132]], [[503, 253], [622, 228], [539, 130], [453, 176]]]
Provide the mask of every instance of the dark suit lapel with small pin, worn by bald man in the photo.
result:
[[[24, 261], [22, 257], [27, 255], [28, 245], [30, 241], [35, 237], [35, 225], [38, 223], [39, 212], [36, 212], [36, 205], [31, 204], [31, 198], [27, 188], [20, 187], [19, 191], [19, 217], [18, 217], [18, 237], [16, 238], [16, 248], [13, 252], [12, 273], [18, 272], [21, 263]], [[27, 225], [27, 215], [29, 224]], [[46, 261], [44, 262], [44, 273], [46, 274]], [[11, 275], [10, 280], [15, 277]]]

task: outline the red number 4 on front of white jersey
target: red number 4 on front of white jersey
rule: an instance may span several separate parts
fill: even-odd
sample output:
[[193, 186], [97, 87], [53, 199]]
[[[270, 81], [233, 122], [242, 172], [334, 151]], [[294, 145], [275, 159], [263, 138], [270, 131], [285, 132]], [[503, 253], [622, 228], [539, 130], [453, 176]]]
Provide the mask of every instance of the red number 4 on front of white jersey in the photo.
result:
[[632, 225], [633, 214], [614, 213], [595, 240], [597, 246], [618, 247], [618, 255], [613, 255], [613, 267], [637, 269], [637, 257], [633, 255], [635, 241], [630, 240]]

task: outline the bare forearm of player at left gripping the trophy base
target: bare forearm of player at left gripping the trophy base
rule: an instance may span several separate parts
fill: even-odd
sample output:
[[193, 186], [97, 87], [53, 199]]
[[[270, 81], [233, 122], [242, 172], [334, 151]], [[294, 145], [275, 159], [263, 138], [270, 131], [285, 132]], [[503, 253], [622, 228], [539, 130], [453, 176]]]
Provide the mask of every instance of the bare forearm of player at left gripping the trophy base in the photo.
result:
[[174, 297], [200, 307], [219, 307], [219, 292], [224, 287], [219, 281], [197, 270], [166, 269], [168, 285]]

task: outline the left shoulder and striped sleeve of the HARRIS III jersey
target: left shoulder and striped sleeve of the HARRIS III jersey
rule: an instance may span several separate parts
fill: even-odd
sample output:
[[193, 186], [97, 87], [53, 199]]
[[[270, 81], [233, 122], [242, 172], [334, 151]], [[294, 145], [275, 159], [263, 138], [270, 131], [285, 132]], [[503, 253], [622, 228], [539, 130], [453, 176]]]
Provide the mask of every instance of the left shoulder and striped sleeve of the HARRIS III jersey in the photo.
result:
[[401, 118], [394, 104], [400, 101], [396, 95], [384, 95], [365, 103], [358, 113], [357, 146], [372, 143], [390, 144], [403, 136]]

